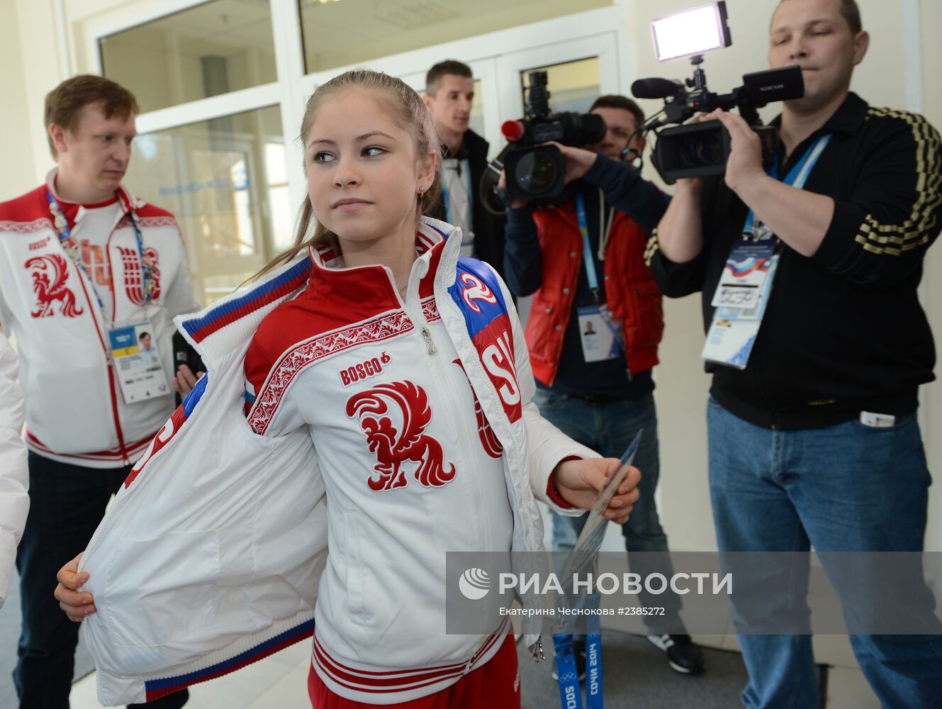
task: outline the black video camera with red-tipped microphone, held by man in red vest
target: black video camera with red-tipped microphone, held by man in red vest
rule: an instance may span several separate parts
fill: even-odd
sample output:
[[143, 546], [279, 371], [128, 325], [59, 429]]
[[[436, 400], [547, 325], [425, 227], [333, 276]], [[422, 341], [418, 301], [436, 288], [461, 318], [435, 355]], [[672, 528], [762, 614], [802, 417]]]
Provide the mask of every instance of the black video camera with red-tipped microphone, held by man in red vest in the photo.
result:
[[501, 126], [504, 136], [511, 142], [502, 154], [510, 199], [555, 197], [565, 186], [565, 169], [559, 148], [539, 143], [555, 140], [563, 145], [579, 146], [605, 137], [605, 121], [597, 114], [551, 113], [546, 81], [545, 72], [530, 72], [527, 115]]

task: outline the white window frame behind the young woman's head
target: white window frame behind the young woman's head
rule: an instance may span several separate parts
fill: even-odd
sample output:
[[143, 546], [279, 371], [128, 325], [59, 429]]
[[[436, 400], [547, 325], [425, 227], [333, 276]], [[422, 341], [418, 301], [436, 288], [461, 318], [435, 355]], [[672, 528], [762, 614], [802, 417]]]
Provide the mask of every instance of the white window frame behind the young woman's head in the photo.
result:
[[[81, 25], [79, 38], [85, 50], [85, 70], [93, 74], [103, 73], [101, 39], [212, 1], [140, 0], [89, 17]], [[291, 205], [300, 205], [307, 196], [306, 180], [300, 170], [303, 149], [298, 140], [307, 98], [318, 85], [349, 69], [365, 65], [398, 76], [410, 86], [422, 87], [425, 72], [432, 64], [443, 58], [462, 58], [472, 68], [475, 78], [482, 79], [485, 138], [491, 141], [494, 154], [503, 146], [500, 125], [508, 118], [504, 114], [522, 115], [523, 105], [515, 71], [518, 66], [523, 66], [521, 61], [524, 64], [536, 61], [529, 66], [537, 66], [556, 63], [557, 59], [572, 60], [577, 58], [574, 52], [582, 55], [589, 52], [599, 56], [604, 92], [626, 93], [630, 79], [637, 74], [635, 46], [625, 31], [633, 16], [631, 0], [613, 0], [607, 8], [585, 10], [531, 25], [421, 47], [365, 64], [338, 66], [310, 74], [304, 73], [298, 0], [269, 0], [269, 7], [272, 33], [277, 38], [274, 42], [275, 81], [141, 113], [137, 116], [137, 127], [138, 133], [154, 133], [246, 111], [279, 107], [285, 147], [284, 169]], [[502, 51], [495, 52], [495, 47]], [[502, 74], [508, 71], [514, 73], [502, 79]], [[512, 94], [516, 95], [516, 104], [508, 104], [508, 97]], [[196, 262], [191, 265], [198, 268]], [[204, 274], [198, 270], [195, 275], [202, 280]]]

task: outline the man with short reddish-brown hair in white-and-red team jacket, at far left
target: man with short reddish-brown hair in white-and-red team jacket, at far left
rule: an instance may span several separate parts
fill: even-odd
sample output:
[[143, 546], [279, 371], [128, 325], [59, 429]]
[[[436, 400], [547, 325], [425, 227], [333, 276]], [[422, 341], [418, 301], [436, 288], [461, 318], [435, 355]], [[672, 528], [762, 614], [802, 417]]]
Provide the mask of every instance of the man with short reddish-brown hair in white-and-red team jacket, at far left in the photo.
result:
[[[16, 562], [21, 709], [69, 706], [78, 630], [49, 579], [88, 544], [170, 416], [174, 389], [196, 381], [173, 367], [172, 318], [196, 309], [180, 229], [122, 185], [137, 112], [134, 95], [101, 76], [62, 82], [45, 106], [57, 168], [0, 204], [0, 324], [17, 342], [29, 448], [31, 508]], [[142, 330], [161, 362], [146, 376], [133, 366]]]

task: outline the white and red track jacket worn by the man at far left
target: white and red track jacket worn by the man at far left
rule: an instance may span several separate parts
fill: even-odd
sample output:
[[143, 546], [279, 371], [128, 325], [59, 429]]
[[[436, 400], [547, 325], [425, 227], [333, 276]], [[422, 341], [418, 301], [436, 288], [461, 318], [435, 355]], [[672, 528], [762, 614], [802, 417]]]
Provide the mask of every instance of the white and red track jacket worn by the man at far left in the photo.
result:
[[[0, 323], [16, 339], [26, 398], [26, 444], [48, 458], [89, 468], [118, 468], [144, 451], [173, 410], [172, 390], [125, 405], [109, 363], [113, 322], [149, 320], [168, 377], [174, 370], [172, 319], [196, 309], [187, 254], [173, 215], [123, 187], [107, 241], [114, 304], [102, 312], [92, 285], [59, 243], [46, 184], [0, 204]], [[57, 195], [56, 195], [57, 196]], [[57, 196], [73, 237], [84, 209]], [[145, 252], [156, 259], [156, 289], [144, 303], [137, 216]]]

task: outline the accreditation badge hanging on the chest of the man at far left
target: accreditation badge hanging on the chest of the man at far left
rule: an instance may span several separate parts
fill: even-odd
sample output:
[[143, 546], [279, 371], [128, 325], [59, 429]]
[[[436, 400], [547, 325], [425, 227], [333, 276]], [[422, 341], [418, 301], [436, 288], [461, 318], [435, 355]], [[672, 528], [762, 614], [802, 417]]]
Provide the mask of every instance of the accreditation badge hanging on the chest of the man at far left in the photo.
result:
[[124, 404], [172, 393], [151, 322], [133, 322], [108, 330], [108, 344]]

